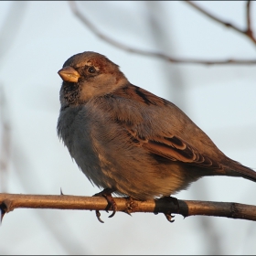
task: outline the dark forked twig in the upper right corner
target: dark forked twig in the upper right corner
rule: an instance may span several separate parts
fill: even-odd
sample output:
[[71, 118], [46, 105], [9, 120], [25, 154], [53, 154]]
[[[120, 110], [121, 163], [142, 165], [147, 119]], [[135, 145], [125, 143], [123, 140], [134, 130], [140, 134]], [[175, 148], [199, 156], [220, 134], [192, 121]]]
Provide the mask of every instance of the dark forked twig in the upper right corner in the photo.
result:
[[205, 9], [203, 9], [202, 7], [199, 7], [197, 4], [191, 2], [191, 1], [186, 1], [187, 4], [193, 6], [194, 8], [196, 8], [200, 13], [204, 14], [205, 16], [208, 16], [209, 18], [211, 18], [212, 20], [218, 22], [221, 25], [224, 25], [226, 27], [232, 28], [234, 30], [236, 30], [237, 32], [239, 32], [242, 35], [245, 35], [247, 37], [249, 37], [252, 42], [254, 42], [254, 44], [256, 44], [256, 38], [253, 37], [252, 35], [252, 31], [251, 31], [251, 18], [250, 18], [250, 2], [247, 2], [247, 28], [245, 30], [240, 29], [239, 27], [236, 27], [235, 25], [226, 22], [224, 20], [221, 20], [219, 17], [217, 16], [213, 16], [210, 13], [208, 13], [208, 11], [206, 11]]

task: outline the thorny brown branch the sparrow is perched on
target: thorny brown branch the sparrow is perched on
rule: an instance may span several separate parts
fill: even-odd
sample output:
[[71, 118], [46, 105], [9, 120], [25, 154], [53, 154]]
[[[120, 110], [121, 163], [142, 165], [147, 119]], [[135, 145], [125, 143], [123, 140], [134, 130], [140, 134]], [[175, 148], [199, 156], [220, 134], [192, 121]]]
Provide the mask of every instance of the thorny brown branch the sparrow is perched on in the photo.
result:
[[[177, 200], [170, 203], [169, 198], [163, 197], [155, 200], [138, 201], [129, 197], [114, 197], [117, 211], [126, 213], [152, 212], [176, 213], [184, 217], [192, 215], [219, 216], [231, 219], [256, 220], [256, 207], [239, 203], [208, 202]], [[41, 196], [0, 193], [0, 209], [2, 217], [15, 208], [59, 208], [59, 209], [88, 209], [105, 210], [107, 201], [104, 197], [78, 197], [78, 196]]]

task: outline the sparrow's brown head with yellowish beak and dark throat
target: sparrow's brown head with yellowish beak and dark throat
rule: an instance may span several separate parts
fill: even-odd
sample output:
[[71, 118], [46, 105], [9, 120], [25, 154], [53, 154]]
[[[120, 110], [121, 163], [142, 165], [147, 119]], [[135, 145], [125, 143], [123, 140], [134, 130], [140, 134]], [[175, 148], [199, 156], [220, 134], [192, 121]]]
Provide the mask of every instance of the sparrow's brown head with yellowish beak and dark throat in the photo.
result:
[[119, 66], [105, 56], [85, 51], [70, 57], [59, 70], [62, 105], [80, 105], [128, 83]]

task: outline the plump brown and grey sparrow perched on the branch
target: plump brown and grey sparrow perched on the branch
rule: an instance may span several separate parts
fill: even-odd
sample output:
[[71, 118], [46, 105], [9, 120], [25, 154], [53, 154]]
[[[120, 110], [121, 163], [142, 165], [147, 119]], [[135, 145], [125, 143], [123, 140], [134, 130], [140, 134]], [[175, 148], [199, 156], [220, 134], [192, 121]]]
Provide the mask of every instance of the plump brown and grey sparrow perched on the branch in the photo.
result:
[[203, 176], [256, 182], [255, 171], [224, 155], [185, 112], [133, 85], [104, 55], [75, 54], [58, 73], [59, 138], [92, 185], [103, 189], [96, 196], [106, 197], [113, 214], [112, 193], [171, 197]]

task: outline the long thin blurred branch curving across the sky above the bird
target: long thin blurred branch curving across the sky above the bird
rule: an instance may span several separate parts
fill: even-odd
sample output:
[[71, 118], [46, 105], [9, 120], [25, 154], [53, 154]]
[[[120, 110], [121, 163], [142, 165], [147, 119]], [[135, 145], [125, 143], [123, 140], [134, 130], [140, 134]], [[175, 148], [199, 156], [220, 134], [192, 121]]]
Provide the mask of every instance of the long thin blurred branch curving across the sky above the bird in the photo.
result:
[[89, 19], [87, 19], [78, 9], [75, 1], [69, 1], [70, 8], [75, 16], [78, 16], [80, 21], [88, 27], [93, 34], [95, 34], [97, 37], [100, 37], [102, 40], [106, 41], [107, 43], [111, 44], [112, 46], [116, 48], [121, 48], [124, 51], [128, 51], [131, 53], [148, 56], [148, 57], [155, 57], [160, 59], [165, 59], [169, 62], [173, 63], [183, 63], [183, 64], [200, 64], [200, 65], [222, 65], [222, 64], [236, 64], [236, 65], [255, 65], [256, 59], [223, 59], [223, 60], [205, 60], [205, 59], [186, 59], [186, 58], [173, 58], [170, 56], [167, 56], [160, 52], [153, 52], [153, 51], [147, 51], [144, 49], [138, 49], [138, 48], [131, 48], [127, 45], [124, 45], [123, 43], [120, 43], [111, 37], [108, 37], [101, 33], [101, 31], [95, 27]]

